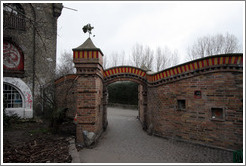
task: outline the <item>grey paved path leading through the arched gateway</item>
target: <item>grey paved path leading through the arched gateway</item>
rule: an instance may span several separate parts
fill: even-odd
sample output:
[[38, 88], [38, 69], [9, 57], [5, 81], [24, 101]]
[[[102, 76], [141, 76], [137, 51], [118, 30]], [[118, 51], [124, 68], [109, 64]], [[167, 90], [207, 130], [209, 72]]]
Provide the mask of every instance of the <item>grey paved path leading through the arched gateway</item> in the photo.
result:
[[79, 152], [84, 163], [215, 163], [232, 162], [231, 152], [149, 136], [138, 111], [108, 108], [109, 125], [93, 149]]

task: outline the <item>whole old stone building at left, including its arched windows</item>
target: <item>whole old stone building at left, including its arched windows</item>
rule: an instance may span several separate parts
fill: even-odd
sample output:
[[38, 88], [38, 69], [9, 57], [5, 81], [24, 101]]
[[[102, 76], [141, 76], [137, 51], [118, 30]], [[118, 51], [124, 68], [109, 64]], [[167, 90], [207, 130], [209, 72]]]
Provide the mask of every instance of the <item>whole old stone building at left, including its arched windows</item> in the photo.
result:
[[62, 4], [3, 4], [3, 103], [7, 114], [42, 111], [42, 87], [54, 79]]

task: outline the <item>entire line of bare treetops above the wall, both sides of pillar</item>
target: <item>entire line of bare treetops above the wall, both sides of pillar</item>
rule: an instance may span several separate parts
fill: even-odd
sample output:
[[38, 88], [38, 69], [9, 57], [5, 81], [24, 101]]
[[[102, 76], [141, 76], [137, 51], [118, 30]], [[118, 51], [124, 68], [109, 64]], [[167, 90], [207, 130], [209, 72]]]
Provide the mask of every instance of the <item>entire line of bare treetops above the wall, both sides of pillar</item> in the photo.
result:
[[[241, 48], [239, 40], [233, 34], [206, 35], [197, 38], [193, 44], [187, 47], [186, 60], [190, 61], [218, 54], [239, 53], [242, 52]], [[132, 47], [129, 55], [126, 55], [124, 51], [113, 52], [110, 55], [104, 55], [103, 58], [104, 69], [127, 65], [158, 72], [182, 63], [178, 50], [171, 50], [167, 46], [159, 46], [153, 50], [150, 46], [139, 43]], [[59, 60], [61, 63], [57, 65], [58, 77], [76, 72], [72, 53], [64, 52], [60, 55]]]

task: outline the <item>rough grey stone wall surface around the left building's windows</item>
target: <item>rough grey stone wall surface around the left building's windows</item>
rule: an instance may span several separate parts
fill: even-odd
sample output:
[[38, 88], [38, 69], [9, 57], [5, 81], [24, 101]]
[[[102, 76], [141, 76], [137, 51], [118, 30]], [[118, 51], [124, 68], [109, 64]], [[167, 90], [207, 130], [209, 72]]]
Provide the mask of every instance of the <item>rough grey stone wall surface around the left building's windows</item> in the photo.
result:
[[[54, 80], [56, 67], [57, 18], [62, 4], [21, 3], [25, 30], [4, 26], [3, 39], [15, 43], [24, 54], [24, 74], [16, 76], [4, 71], [4, 77], [20, 77], [31, 89], [34, 110], [41, 109], [40, 87]], [[8, 22], [9, 20], [4, 20]], [[4, 23], [4, 25], [5, 25]], [[39, 104], [40, 105], [40, 104]]]

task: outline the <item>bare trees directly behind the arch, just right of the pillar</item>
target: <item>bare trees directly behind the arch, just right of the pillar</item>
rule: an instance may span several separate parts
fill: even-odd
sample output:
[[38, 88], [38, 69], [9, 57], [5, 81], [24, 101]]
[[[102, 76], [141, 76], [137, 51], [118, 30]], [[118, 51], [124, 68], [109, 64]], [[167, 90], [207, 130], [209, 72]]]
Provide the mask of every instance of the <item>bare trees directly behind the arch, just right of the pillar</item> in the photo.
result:
[[[155, 51], [149, 46], [136, 43], [130, 55], [125, 52], [113, 52], [110, 57], [104, 56], [104, 69], [114, 66], [135, 66], [144, 70], [160, 71], [162, 69], [175, 66], [179, 63], [178, 51], [170, 50], [167, 46], [158, 47]], [[127, 58], [127, 59], [126, 59]]]

